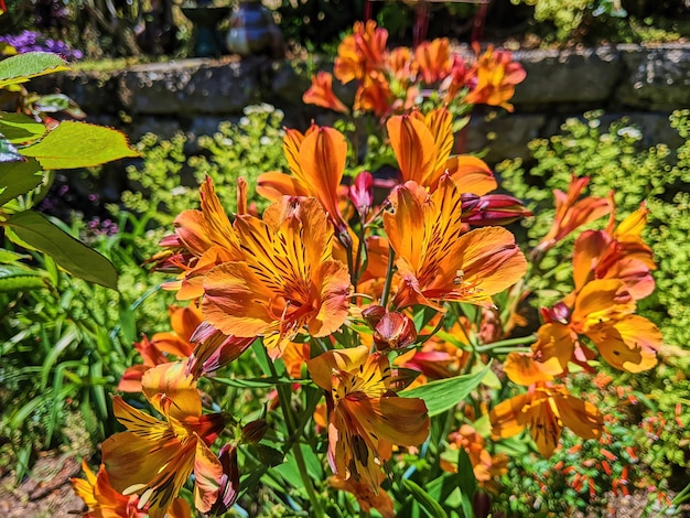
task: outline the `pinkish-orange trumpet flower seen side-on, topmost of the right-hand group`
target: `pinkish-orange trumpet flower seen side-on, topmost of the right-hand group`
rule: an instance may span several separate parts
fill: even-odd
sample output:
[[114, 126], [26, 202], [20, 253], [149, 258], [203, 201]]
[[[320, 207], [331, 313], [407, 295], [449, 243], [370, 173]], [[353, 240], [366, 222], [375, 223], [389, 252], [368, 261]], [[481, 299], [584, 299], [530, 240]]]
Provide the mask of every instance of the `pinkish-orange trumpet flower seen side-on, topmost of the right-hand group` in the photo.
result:
[[546, 252], [574, 229], [605, 216], [613, 209], [613, 204], [607, 198], [587, 196], [580, 201], [578, 199], [589, 183], [589, 177], [583, 176], [579, 179], [573, 175], [570, 180], [568, 194], [558, 188], [553, 191], [553, 196], [556, 197], [556, 217], [553, 218], [551, 228], [547, 235], [541, 238], [533, 253]]

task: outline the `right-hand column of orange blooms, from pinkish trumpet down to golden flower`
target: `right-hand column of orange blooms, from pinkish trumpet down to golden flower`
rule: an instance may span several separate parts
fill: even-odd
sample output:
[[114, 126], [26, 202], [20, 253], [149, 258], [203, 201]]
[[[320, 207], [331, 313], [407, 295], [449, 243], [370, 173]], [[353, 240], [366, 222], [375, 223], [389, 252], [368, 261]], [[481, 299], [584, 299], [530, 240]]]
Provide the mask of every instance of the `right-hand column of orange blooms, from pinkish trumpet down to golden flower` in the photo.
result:
[[[657, 363], [661, 333], [636, 302], [651, 294], [655, 268], [640, 234], [648, 209], [643, 205], [615, 224], [613, 196], [580, 198], [589, 179], [573, 177], [568, 193], [554, 192], [554, 222], [533, 257], [582, 225], [611, 214], [604, 230], [584, 230], [574, 241], [574, 290], [551, 307], [542, 307], [543, 324], [529, 353], [510, 353], [504, 369], [526, 393], [497, 404], [493, 432], [507, 438], [525, 427], [545, 456], [558, 446], [563, 427], [584, 439], [601, 435], [603, 417], [591, 403], [571, 396], [562, 384], [571, 369], [593, 371], [595, 350], [612, 367], [640, 373]], [[559, 380], [561, 382], [559, 382]]]

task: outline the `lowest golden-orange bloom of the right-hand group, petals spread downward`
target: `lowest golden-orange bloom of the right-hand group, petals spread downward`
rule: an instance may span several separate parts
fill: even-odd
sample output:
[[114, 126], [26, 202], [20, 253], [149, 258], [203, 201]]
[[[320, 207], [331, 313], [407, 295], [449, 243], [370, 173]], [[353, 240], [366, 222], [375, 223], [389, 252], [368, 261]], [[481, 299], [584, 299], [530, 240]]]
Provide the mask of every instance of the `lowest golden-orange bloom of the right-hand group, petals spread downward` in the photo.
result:
[[549, 457], [558, 446], [564, 427], [583, 439], [601, 435], [603, 417], [594, 404], [578, 399], [564, 386], [553, 385], [551, 376], [539, 374], [528, 355], [510, 353], [506, 374], [519, 385], [530, 382], [527, 392], [498, 403], [489, 413], [494, 439], [509, 438], [525, 427], [539, 452]]

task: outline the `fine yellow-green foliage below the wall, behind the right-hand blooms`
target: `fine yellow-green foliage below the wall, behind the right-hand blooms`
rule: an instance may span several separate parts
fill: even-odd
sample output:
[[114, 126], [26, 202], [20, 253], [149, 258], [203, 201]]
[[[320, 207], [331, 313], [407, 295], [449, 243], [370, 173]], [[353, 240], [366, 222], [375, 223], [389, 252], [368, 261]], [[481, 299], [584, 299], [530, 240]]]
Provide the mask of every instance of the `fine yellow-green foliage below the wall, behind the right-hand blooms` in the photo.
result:
[[[601, 112], [590, 112], [584, 120], [569, 119], [563, 134], [529, 143], [535, 162], [505, 161], [497, 166], [502, 185], [515, 196], [527, 201], [535, 213], [524, 222], [527, 245], [533, 247], [551, 225], [551, 190], [568, 190], [571, 175], [590, 176], [590, 194], [607, 196], [614, 190], [616, 219], [621, 220], [639, 207], [650, 211], [644, 236], [655, 253], [658, 269], [654, 272], [657, 289], [640, 301], [640, 312], [660, 327], [666, 343], [687, 344], [690, 330], [690, 294], [682, 287], [690, 279], [690, 244], [688, 203], [690, 194], [690, 111], [676, 111], [671, 126], [684, 143], [673, 153], [666, 144], [649, 149], [642, 145], [640, 131], [625, 119], [601, 128]], [[599, 222], [604, 225], [605, 222]], [[571, 270], [562, 260], [561, 250], [570, 250], [573, 238], [563, 240], [542, 262], [540, 274], [530, 279], [539, 304], [552, 302], [557, 289], [567, 292]]]

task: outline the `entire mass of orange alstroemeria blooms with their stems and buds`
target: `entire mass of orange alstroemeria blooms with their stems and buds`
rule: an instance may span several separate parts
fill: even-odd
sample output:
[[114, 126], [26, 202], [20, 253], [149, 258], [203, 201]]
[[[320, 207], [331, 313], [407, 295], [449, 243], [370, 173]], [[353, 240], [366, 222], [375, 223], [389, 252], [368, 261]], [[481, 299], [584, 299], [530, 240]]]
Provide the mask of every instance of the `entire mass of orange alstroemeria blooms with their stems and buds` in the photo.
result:
[[[616, 225], [613, 197], [579, 199], [587, 179], [573, 179], [568, 193], [554, 193], [553, 227], [528, 262], [505, 225], [530, 213], [496, 193], [483, 160], [453, 153], [453, 111], [393, 100], [435, 85], [446, 105], [508, 108], [521, 68], [494, 48], [465, 66], [444, 40], [388, 52], [386, 37], [373, 23], [357, 24], [335, 74], [360, 82], [356, 110], [385, 118], [395, 179], [377, 184], [376, 174], [348, 168], [351, 143], [336, 128], [287, 129], [289, 172], [258, 177], [257, 192], [270, 202], [261, 215], [248, 209], [242, 179], [237, 212], [228, 214], [207, 177], [200, 207], [182, 212], [160, 241], [150, 263], [172, 276], [163, 288], [180, 305], [170, 309], [172, 332], [134, 344], [142, 364], [118, 387], [140, 391], [159, 417], [115, 397], [127, 430], [103, 443], [99, 474], [75, 482], [94, 516], [108, 506], [117, 516], [183, 516], [176, 498], [185, 485], [198, 511], [225, 512], [287, 460], [283, 479], [299, 473], [298, 498], [309, 499], [303, 509], [314, 516], [326, 514], [324, 494], [342, 490], [348, 506], [356, 499], [363, 512], [389, 518], [405, 488], [423, 492], [409, 478], [429, 450], [438, 473], [472, 477], [485, 496], [507, 471], [489, 436], [529, 428], [545, 456], [563, 428], [602, 438], [602, 413], [567, 384], [575, 369], [595, 370], [596, 352], [633, 373], [655, 365], [661, 337], [634, 314], [654, 290], [651, 251], [640, 238], [645, 207]], [[331, 78], [321, 77], [330, 89]], [[400, 95], [387, 94], [396, 88]], [[607, 214], [605, 229], [575, 239], [573, 291], [541, 310], [536, 334], [511, 338], [527, 323], [519, 313], [530, 268]], [[261, 366], [261, 378], [242, 379], [247, 360]], [[524, 388], [494, 402], [500, 374]], [[224, 384], [270, 390], [247, 398], [259, 410], [235, 416], [220, 412], [228, 392], [214, 398]], [[471, 392], [475, 404], [461, 407]], [[412, 455], [419, 462], [401, 475]], [[331, 476], [313, 474], [324, 468]]]

